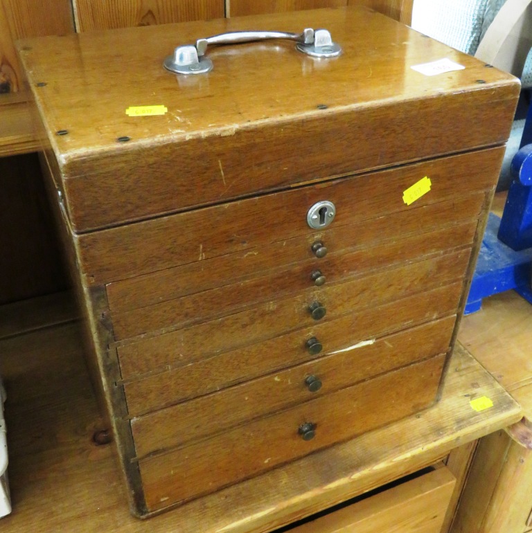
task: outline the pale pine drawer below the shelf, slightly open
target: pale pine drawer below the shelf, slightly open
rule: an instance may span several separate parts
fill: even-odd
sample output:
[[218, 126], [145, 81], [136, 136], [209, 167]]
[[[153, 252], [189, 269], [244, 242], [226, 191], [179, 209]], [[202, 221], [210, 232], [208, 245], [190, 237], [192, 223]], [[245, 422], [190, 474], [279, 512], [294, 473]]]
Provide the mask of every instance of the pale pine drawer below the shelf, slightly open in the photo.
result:
[[[394, 483], [393, 485], [396, 485]], [[447, 467], [331, 509], [283, 533], [441, 533], [456, 478]], [[281, 533], [279, 531], [278, 533]]]

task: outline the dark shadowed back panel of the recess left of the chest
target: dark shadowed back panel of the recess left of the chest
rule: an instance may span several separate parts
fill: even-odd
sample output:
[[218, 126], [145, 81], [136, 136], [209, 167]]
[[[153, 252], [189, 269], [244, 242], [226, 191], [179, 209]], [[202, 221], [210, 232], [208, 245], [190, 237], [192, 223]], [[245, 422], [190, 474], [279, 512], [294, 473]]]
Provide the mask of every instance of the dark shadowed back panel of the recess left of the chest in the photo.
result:
[[68, 287], [37, 154], [0, 158], [0, 305]]

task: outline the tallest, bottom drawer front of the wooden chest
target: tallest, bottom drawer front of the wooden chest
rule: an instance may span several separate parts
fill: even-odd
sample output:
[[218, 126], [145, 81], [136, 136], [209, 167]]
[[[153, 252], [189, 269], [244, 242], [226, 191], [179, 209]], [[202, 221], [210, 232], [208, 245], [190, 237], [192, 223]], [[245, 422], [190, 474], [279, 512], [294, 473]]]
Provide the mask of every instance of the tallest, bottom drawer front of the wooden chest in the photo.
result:
[[[215, 491], [427, 408], [434, 403], [445, 359], [436, 356], [208, 440], [140, 460], [148, 509]], [[299, 434], [307, 423], [315, 424], [312, 440], [303, 440]]]

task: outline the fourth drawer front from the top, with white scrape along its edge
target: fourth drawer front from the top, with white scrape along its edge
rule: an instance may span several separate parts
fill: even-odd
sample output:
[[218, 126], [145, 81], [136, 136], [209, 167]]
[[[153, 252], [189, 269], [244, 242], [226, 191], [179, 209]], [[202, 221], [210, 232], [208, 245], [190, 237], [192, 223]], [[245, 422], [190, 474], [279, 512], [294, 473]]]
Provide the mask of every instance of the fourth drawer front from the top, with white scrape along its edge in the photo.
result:
[[[448, 288], [447, 288], [448, 289]], [[451, 287], [450, 290], [453, 288]], [[437, 296], [434, 291], [425, 298]], [[414, 300], [409, 298], [406, 305]], [[454, 303], [454, 302], [452, 302]], [[432, 304], [432, 305], [431, 305]], [[400, 305], [405, 305], [400, 302]], [[416, 323], [427, 320], [427, 307], [432, 307], [434, 315], [442, 312], [436, 309], [434, 302], [428, 305], [423, 302], [421, 308], [407, 308], [407, 312], [400, 309], [400, 305], [390, 305], [381, 308], [378, 312], [369, 311], [362, 316], [348, 316], [344, 319], [335, 320], [332, 323], [323, 324], [314, 329], [314, 334], [306, 334], [301, 330], [292, 334], [251, 345], [239, 350], [224, 352], [218, 356], [202, 359], [195, 363], [179, 366], [172, 370], [150, 374], [141, 379], [135, 379], [124, 384], [127, 399], [127, 408], [130, 416], [136, 417], [161, 409], [179, 401], [184, 401], [193, 397], [202, 396], [222, 390], [229, 386], [242, 383], [247, 379], [254, 379], [263, 374], [275, 372], [283, 368], [297, 365], [305, 361], [314, 361], [326, 354], [346, 350], [350, 346], [357, 346], [361, 343], [372, 343], [376, 338], [397, 331], [405, 324], [411, 327]], [[450, 307], [450, 306], [449, 306]], [[448, 309], [447, 312], [455, 311]], [[387, 312], [388, 316], [379, 316], [379, 313]], [[408, 320], [405, 320], [407, 315]], [[431, 316], [431, 318], [432, 318]], [[373, 320], [373, 323], [371, 323]], [[450, 327], [454, 325], [451, 320]], [[364, 328], [364, 325], [366, 327]], [[316, 339], [324, 347], [320, 354], [311, 354], [305, 345], [307, 339]], [[436, 339], [432, 339], [434, 341]], [[430, 343], [427, 344], [429, 346]], [[316, 347], [314, 346], [314, 349]], [[447, 347], [427, 353], [436, 354], [445, 352]], [[359, 352], [357, 352], [357, 355]], [[411, 354], [405, 354], [408, 358]], [[387, 361], [387, 365], [392, 364]], [[392, 364], [388, 370], [396, 368], [400, 364]], [[379, 368], [379, 365], [375, 365]], [[364, 368], [360, 372], [368, 375], [378, 373], [375, 368]], [[364, 379], [365, 375], [360, 375], [357, 379]], [[353, 382], [353, 381], [352, 381]]]

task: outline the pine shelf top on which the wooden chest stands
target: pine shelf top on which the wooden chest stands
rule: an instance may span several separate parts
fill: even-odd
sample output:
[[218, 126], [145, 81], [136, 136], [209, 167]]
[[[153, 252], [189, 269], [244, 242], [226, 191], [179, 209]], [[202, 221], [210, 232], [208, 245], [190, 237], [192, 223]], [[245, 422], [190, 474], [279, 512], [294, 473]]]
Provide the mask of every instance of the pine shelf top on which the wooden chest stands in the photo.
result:
[[[465, 442], [517, 422], [517, 405], [475, 360], [458, 352], [451, 368], [434, 408], [334, 451], [319, 452], [305, 476], [297, 464], [268, 475], [260, 485], [245, 482], [242, 489], [224, 489], [203, 503], [139, 521], [128, 512], [112, 446], [91, 441], [101, 426], [76, 325], [1, 341], [15, 505], [15, 512], [2, 518], [2, 532], [273, 530], [432, 464], [456, 446], [456, 439]], [[472, 411], [463, 396], [472, 391], [495, 399], [494, 408]], [[383, 449], [382, 442], [391, 442], [391, 448]]]

